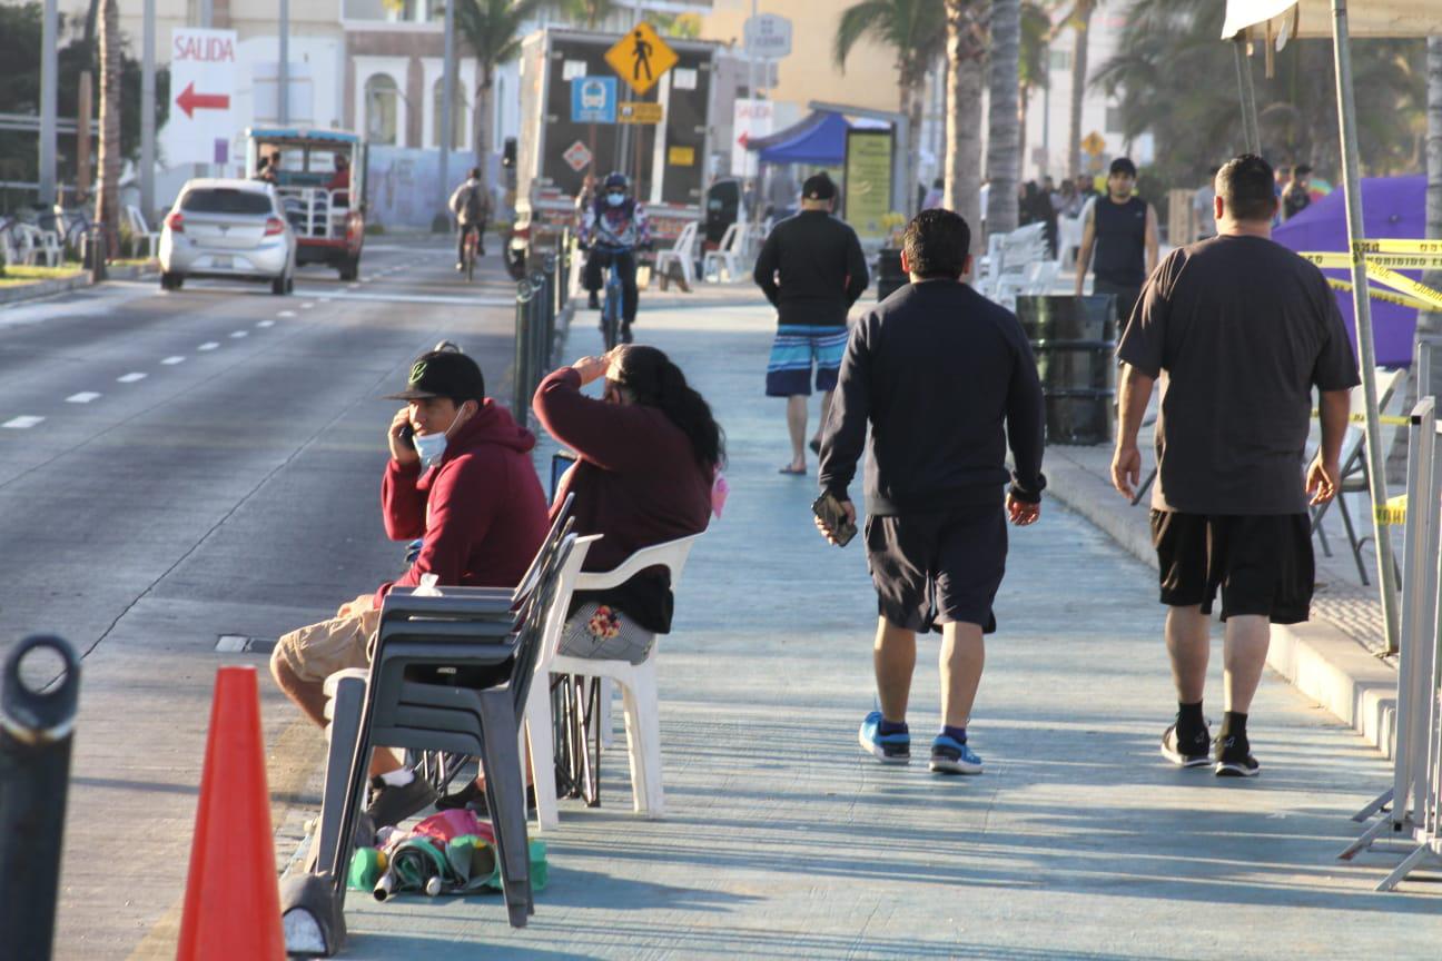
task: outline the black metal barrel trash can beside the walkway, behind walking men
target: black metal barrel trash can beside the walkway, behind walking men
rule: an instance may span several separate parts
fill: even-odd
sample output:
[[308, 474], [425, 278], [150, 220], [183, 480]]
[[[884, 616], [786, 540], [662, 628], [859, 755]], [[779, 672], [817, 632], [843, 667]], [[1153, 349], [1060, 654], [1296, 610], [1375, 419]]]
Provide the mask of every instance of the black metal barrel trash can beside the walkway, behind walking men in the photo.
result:
[[1037, 356], [1048, 444], [1112, 441], [1116, 314], [1105, 297], [1018, 297], [1017, 317]]

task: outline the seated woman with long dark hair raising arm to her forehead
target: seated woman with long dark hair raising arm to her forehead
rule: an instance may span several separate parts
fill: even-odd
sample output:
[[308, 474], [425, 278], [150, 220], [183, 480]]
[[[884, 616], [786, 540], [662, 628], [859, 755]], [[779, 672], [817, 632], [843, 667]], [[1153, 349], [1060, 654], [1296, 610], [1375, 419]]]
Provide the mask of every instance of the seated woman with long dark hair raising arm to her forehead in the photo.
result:
[[[581, 393], [601, 377], [600, 401]], [[707, 529], [725, 439], [711, 406], [665, 353], [629, 344], [583, 357], [542, 380], [531, 403], [551, 437], [577, 454], [555, 504], [575, 494], [575, 532], [604, 535], [585, 571], [611, 571], [642, 547]], [[671, 631], [671, 614], [665, 568], [607, 591], [577, 591], [561, 653], [639, 664], [656, 635]]]

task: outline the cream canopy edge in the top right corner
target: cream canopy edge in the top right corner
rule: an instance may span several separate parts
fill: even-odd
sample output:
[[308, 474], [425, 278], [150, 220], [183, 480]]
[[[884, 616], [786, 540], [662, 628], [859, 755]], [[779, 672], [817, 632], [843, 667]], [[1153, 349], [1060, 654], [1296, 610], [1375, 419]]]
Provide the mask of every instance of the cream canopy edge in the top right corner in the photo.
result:
[[[1354, 37], [1429, 36], [1442, 33], [1438, 0], [1368, 0], [1347, 6], [1347, 27]], [[1330, 0], [1227, 0], [1221, 39], [1247, 30], [1252, 39], [1331, 37]]]

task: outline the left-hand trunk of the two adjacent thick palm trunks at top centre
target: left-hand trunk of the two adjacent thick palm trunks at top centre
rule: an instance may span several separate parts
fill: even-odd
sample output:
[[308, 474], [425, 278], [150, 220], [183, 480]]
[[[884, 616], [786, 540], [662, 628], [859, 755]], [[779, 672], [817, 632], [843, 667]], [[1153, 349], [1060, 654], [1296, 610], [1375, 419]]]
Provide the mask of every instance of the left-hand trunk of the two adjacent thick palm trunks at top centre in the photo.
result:
[[[946, 193], [942, 203], [979, 225], [982, 58], [986, 30], [976, 0], [946, 0]], [[1015, 196], [1015, 195], [1014, 195]]]

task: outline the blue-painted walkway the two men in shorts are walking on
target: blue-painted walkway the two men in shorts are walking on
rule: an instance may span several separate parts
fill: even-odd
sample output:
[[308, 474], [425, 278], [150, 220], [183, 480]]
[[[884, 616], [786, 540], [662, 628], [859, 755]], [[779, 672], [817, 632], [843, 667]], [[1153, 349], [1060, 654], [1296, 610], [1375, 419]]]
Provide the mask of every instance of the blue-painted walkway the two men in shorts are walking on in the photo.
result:
[[[1436, 955], [1428, 885], [1376, 895], [1392, 859], [1334, 860], [1387, 765], [1312, 702], [1263, 684], [1253, 782], [1162, 761], [1172, 693], [1154, 573], [1056, 500], [1012, 530], [972, 725], [986, 774], [926, 771], [934, 641], [913, 697], [921, 758], [864, 756], [874, 595], [859, 545], [812, 529], [813, 483], [776, 473], [787, 442], [780, 402], [761, 396], [771, 314], [650, 307], [637, 336], [714, 405], [733, 487], [662, 641], [668, 817], [630, 813], [617, 745], [603, 807], [562, 801], [528, 928], [508, 928], [496, 896], [355, 896], [345, 957]], [[568, 356], [598, 349], [593, 320], [577, 316]]]

